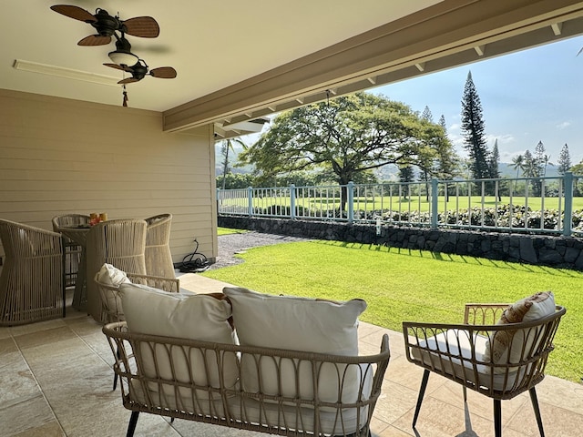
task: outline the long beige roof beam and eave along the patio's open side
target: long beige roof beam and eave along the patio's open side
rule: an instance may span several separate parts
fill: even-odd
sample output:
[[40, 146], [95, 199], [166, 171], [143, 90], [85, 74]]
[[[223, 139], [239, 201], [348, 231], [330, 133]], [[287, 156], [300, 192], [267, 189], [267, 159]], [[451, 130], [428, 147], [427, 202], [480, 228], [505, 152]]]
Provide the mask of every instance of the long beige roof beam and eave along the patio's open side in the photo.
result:
[[[445, 0], [165, 111], [164, 130], [250, 121], [583, 34], [583, 2]], [[225, 129], [222, 129], [225, 131]], [[229, 135], [223, 132], [224, 135]], [[242, 134], [241, 134], [242, 135]], [[236, 136], [236, 135], [230, 135]]]

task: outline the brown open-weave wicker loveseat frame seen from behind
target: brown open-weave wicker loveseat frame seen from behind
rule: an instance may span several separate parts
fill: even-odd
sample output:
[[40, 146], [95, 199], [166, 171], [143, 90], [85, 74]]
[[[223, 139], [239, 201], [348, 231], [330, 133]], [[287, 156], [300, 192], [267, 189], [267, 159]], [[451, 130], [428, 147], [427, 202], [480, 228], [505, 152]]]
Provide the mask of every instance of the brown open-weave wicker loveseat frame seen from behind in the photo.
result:
[[[378, 354], [347, 357], [145, 335], [129, 332], [126, 322], [107, 324], [103, 332], [115, 358], [114, 371], [122, 381], [123, 405], [132, 412], [128, 436], [134, 433], [139, 412], [287, 436], [368, 436], [374, 406], [381, 393], [384, 371], [390, 358], [386, 334]], [[303, 399], [299, 396], [263, 394], [261, 390], [246, 391], [243, 388], [245, 384], [240, 381], [240, 365], [237, 377], [240, 383], [227, 387], [225, 372], [228, 371], [224, 363], [232, 359], [233, 355], [239, 358], [238, 362], [245, 356], [258, 363], [270, 361], [277, 369], [272, 375], [277, 381], [269, 382], [280, 387], [290, 382], [282, 381], [282, 363], [294, 362], [297, 365], [295, 369], [299, 369], [307, 362], [312, 370], [313, 392], [319, 392], [317, 377], [313, 375], [318, 375], [322, 366], [327, 366], [326, 372], [332, 371], [332, 374], [339, 375], [338, 401], [322, 401], [317, 395], [305, 396]], [[189, 361], [190, 357], [207, 357], [202, 372], [218, 375], [220, 384], [197, 381], [198, 378], [192, 372], [189, 381], [177, 381], [179, 378], [175, 376], [165, 377], [160, 374], [159, 362], [169, 363], [174, 372], [175, 365], [179, 366], [179, 363], [173, 361], [172, 357], [177, 356], [181, 361]], [[144, 360], [149, 360], [151, 367], [152, 359], [156, 363], [154, 367], [157, 372], [147, 376], [140, 370], [145, 364], [148, 366]], [[347, 371], [356, 367], [359, 371]], [[292, 384], [300, 384], [299, 373], [295, 372], [296, 381]], [[357, 381], [359, 400], [342, 401], [343, 386], [347, 384], [344, 380], [348, 379], [346, 375], [354, 373], [360, 375], [360, 381]], [[260, 387], [262, 383], [259, 382]]]

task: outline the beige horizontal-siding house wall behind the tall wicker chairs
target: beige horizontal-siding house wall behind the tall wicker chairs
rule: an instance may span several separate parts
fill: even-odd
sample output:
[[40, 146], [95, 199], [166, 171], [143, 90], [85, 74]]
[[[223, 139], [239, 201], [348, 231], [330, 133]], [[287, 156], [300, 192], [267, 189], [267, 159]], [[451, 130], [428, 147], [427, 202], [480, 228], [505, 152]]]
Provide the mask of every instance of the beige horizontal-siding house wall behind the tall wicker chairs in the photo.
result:
[[194, 239], [215, 258], [214, 168], [211, 126], [164, 133], [158, 112], [0, 90], [2, 219], [52, 229], [66, 213], [171, 213], [174, 261]]

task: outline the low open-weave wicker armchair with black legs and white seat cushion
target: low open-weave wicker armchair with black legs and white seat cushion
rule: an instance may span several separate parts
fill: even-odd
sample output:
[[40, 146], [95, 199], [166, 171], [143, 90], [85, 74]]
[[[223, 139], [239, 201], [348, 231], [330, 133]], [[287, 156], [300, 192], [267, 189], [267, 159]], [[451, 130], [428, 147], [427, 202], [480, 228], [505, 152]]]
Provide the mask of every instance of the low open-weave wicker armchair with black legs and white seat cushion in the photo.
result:
[[[494, 400], [496, 437], [502, 436], [501, 401], [528, 391], [543, 437], [543, 423], [537, 401], [536, 385], [545, 378], [548, 354], [566, 310], [557, 306], [554, 314], [527, 322], [496, 324], [508, 308], [506, 304], [467, 304], [464, 324], [404, 322], [407, 360], [424, 368], [414, 412], [417, 422], [429, 373], [434, 372]], [[487, 348], [494, 339], [506, 339], [506, 355], [489, 359]], [[496, 361], [496, 362], [495, 362]]]

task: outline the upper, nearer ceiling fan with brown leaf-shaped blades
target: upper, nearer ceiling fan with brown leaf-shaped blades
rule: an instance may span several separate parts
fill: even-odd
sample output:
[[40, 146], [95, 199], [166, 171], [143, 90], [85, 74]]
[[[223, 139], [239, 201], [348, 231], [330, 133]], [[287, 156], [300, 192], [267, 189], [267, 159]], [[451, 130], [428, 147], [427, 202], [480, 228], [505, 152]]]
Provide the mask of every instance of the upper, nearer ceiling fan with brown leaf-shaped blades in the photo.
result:
[[79, 21], [92, 25], [96, 35], [86, 36], [77, 44], [79, 46], [104, 46], [111, 42], [111, 36], [116, 36], [116, 31], [131, 36], [142, 38], [156, 38], [159, 36], [158, 23], [151, 16], [137, 16], [128, 20], [120, 20], [119, 17], [109, 15], [105, 9], [97, 8], [93, 15], [87, 10], [74, 5], [53, 5], [51, 9], [59, 14], [66, 15]]

